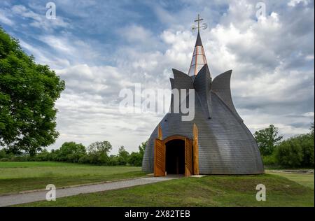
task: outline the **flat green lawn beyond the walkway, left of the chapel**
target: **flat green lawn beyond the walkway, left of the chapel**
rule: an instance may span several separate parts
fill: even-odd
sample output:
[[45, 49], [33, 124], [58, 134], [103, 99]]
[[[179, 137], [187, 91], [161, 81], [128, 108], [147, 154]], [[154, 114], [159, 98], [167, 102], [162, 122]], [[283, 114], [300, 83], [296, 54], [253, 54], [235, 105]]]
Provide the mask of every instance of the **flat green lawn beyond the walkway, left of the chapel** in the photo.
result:
[[60, 162], [0, 162], [0, 194], [146, 176], [141, 167]]

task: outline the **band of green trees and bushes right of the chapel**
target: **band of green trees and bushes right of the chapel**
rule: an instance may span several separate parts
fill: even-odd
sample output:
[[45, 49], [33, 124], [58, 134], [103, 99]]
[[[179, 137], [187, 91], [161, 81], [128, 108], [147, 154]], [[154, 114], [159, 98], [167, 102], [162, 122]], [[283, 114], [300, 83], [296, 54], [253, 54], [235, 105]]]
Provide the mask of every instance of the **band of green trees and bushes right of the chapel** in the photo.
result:
[[278, 128], [269, 125], [255, 131], [262, 160], [267, 166], [284, 168], [314, 168], [314, 122], [307, 134], [283, 140]]

